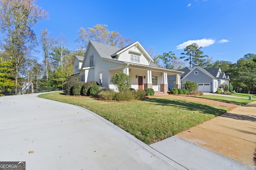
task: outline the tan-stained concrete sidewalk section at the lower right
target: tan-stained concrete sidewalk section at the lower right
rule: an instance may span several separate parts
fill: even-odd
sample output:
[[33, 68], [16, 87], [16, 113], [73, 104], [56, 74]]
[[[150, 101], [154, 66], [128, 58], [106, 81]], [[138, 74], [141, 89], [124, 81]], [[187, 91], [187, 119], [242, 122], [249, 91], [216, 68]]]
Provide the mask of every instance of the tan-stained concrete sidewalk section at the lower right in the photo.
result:
[[176, 135], [256, 168], [256, 101]]

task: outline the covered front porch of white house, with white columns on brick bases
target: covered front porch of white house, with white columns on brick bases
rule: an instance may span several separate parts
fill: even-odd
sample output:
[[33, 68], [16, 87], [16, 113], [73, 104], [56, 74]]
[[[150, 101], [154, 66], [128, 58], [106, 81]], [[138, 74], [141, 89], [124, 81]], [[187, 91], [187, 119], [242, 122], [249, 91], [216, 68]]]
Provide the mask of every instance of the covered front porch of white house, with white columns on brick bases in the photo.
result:
[[[112, 75], [122, 72], [131, 76], [130, 88], [143, 89], [152, 88], [154, 91], [168, 92], [168, 75], [176, 75], [176, 88], [180, 88], [180, 74], [183, 72], [158, 68], [153, 66], [144, 66], [139, 64], [126, 63], [125, 66], [108, 71], [108, 80]], [[115, 89], [114, 84], [109, 82], [109, 88]]]

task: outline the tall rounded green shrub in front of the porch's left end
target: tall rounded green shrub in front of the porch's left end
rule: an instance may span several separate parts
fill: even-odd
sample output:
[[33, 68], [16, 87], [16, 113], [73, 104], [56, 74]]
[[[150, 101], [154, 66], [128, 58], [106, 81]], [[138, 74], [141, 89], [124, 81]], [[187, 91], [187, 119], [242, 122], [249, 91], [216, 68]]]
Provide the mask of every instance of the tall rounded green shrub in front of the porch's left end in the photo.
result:
[[131, 77], [122, 72], [116, 73], [111, 77], [110, 82], [112, 82], [119, 92], [129, 91], [131, 84]]

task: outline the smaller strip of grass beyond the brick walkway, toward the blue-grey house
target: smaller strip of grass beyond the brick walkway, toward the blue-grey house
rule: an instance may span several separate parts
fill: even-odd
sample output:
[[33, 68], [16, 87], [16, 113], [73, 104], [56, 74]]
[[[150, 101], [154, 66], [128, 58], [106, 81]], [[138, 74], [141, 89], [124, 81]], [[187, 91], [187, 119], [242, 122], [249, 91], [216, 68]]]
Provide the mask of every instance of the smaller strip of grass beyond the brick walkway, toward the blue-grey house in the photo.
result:
[[226, 96], [216, 96], [216, 95], [204, 95], [204, 96], [194, 96], [194, 97], [216, 100], [216, 101], [231, 103], [231, 104], [237, 104], [240, 106], [243, 106], [245, 104], [248, 104], [248, 103], [254, 101], [254, 100], [248, 100], [245, 98], [244, 99], [243, 98], [232, 98], [232, 97], [228, 97], [228, 96], [226, 97]]

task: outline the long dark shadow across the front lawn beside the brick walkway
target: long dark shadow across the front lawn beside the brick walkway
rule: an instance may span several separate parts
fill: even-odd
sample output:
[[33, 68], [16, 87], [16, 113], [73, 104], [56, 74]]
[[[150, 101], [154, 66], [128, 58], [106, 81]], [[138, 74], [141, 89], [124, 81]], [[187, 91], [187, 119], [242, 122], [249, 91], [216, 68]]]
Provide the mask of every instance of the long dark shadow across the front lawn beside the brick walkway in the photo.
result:
[[219, 109], [214, 106], [209, 106], [208, 104], [197, 104], [194, 102], [190, 102], [189, 100], [171, 100], [171, 99], [164, 99], [164, 98], [150, 98], [147, 100], [148, 102], [152, 102], [155, 105], [160, 106], [172, 106], [176, 108], [188, 109], [191, 111], [201, 111], [202, 113], [212, 114], [218, 116], [222, 113], [226, 112], [226, 109]]

